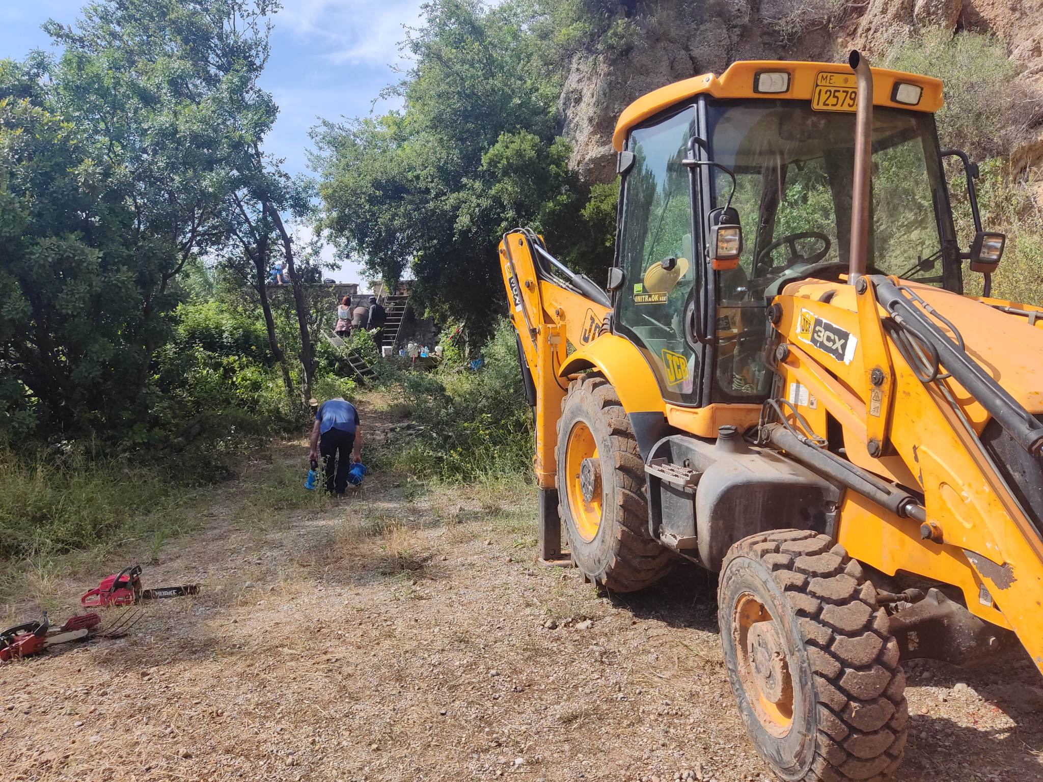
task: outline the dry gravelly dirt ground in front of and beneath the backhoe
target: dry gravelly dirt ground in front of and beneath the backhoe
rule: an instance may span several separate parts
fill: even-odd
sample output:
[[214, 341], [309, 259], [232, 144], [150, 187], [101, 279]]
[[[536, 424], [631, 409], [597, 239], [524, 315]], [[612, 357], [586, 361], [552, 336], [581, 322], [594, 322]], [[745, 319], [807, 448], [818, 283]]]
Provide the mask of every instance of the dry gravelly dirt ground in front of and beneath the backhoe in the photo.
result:
[[[296, 481], [300, 453], [271, 469]], [[0, 667], [0, 779], [770, 777], [700, 571], [599, 596], [534, 563], [526, 487], [374, 475], [342, 505], [253, 524], [228, 512], [249, 503], [244, 486], [146, 566], [148, 583], [202, 581], [199, 597], [149, 606], [130, 637]], [[123, 564], [53, 595], [71, 610]], [[900, 780], [1043, 778], [1029, 664], [914, 665], [909, 683]]]

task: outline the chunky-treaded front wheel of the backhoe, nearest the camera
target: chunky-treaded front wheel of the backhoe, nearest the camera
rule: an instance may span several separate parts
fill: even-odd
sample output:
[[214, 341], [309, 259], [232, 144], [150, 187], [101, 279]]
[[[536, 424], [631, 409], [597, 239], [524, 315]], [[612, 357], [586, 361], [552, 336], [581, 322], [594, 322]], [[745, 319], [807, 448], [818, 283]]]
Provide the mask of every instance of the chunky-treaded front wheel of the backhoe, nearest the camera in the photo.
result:
[[732, 691], [775, 774], [889, 779], [905, 747], [905, 675], [876, 590], [843, 546], [807, 530], [744, 538], [718, 600]]

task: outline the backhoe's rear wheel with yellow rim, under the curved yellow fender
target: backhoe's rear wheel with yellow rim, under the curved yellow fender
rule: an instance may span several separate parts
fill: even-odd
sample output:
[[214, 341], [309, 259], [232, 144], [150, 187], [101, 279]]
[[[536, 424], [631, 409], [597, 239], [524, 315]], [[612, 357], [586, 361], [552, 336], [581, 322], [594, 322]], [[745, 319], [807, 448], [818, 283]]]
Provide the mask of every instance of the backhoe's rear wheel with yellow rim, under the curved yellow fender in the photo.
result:
[[587, 374], [568, 385], [558, 420], [558, 513], [576, 565], [605, 588], [658, 581], [673, 555], [649, 536], [645, 462], [615, 389]]

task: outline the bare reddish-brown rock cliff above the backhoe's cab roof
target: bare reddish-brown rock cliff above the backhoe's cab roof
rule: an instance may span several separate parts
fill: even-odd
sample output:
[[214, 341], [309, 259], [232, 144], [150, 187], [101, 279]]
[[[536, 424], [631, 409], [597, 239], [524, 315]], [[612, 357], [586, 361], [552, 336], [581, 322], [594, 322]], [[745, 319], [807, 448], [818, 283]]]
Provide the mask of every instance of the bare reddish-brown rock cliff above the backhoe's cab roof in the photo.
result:
[[[632, 10], [630, 9], [632, 8]], [[661, 0], [621, 8], [627, 42], [614, 51], [576, 54], [561, 96], [573, 165], [586, 182], [615, 173], [612, 129], [635, 98], [672, 81], [720, 74], [735, 59], [842, 62], [858, 47], [882, 55], [927, 27], [995, 33], [1022, 68], [1043, 82], [1043, 0]], [[1015, 150], [1021, 166], [1043, 156], [1043, 142]]]

